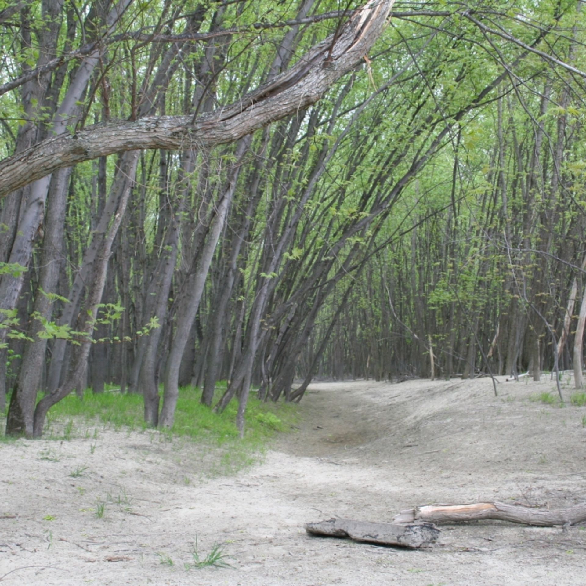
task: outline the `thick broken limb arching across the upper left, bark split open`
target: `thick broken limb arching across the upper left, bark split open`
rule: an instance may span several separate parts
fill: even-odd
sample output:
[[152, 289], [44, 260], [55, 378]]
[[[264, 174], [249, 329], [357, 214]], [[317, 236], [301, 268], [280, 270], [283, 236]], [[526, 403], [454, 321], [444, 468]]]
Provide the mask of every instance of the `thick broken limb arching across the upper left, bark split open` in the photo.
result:
[[209, 149], [263, 128], [318, 101], [380, 36], [394, 0], [369, 0], [286, 73], [237, 103], [203, 115], [108, 122], [47, 139], [0, 162], [0, 197], [65, 166], [134, 149]]

